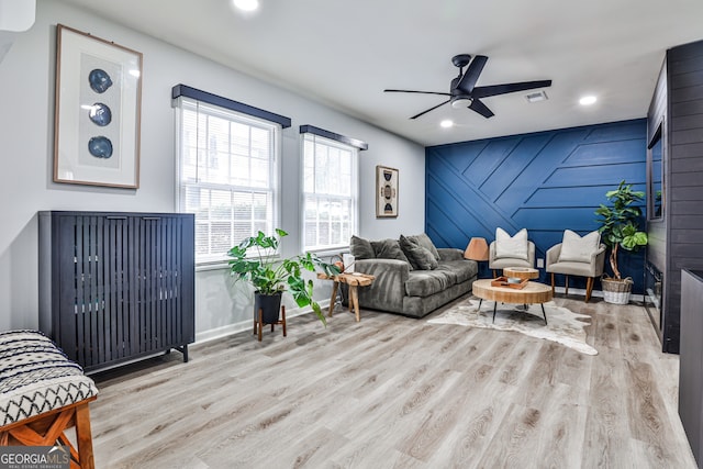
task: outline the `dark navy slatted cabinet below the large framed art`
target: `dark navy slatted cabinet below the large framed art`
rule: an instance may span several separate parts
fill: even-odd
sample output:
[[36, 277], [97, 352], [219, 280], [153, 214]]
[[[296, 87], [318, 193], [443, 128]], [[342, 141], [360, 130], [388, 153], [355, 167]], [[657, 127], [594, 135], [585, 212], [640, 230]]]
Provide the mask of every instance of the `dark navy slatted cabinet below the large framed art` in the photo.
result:
[[86, 371], [194, 340], [192, 214], [40, 212], [40, 328]]

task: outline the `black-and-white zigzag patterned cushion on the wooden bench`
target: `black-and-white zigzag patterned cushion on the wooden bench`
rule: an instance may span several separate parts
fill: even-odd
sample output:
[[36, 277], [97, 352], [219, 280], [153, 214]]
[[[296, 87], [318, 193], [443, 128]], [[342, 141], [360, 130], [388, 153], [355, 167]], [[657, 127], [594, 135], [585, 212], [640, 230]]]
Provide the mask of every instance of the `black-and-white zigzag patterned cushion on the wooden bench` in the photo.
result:
[[0, 426], [98, 395], [92, 379], [45, 335], [0, 333]]

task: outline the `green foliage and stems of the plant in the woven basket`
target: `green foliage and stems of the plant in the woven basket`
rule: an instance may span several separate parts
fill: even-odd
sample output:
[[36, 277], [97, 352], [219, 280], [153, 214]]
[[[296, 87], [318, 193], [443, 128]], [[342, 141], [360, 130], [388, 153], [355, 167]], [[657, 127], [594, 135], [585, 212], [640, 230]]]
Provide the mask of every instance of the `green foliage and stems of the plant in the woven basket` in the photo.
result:
[[645, 193], [634, 191], [632, 185], [627, 185], [623, 180], [617, 189], [605, 192], [605, 198], [612, 203], [612, 206], [601, 204], [595, 210], [595, 214], [601, 216], [596, 220], [601, 223], [598, 231], [601, 233], [603, 243], [611, 248], [609, 260], [614, 279], [622, 280], [617, 268], [618, 248], [637, 252], [647, 245], [647, 233], [639, 231], [641, 209], [637, 205], [644, 200]]

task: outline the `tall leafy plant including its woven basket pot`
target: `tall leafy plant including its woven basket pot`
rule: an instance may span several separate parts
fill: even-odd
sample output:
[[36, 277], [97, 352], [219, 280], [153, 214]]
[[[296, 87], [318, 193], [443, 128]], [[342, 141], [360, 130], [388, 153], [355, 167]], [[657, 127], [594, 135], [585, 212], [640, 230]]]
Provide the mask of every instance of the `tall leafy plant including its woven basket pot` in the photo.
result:
[[626, 304], [629, 301], [633, 280], [627, 277], [623, 279], [620, 268], [617, 267], [617, 255], [622, 247], [628, 252], [637, 252], [640, 247], [647, 245], [647, 233], [639, 231], [641, 221], [640, 203], [645, 193], [634, 191], [632, 185], [621, 181], [617, 189], [605, 192], [605, 198], [612, 203], [612, 206], [601, 204], [595, 210], [595, 214], [601, 219], [599, 232], [601, 241], [611, 248], [609, 257], [613, 277], [601, 279], [603, 286], [603, 297], [610, 303]]

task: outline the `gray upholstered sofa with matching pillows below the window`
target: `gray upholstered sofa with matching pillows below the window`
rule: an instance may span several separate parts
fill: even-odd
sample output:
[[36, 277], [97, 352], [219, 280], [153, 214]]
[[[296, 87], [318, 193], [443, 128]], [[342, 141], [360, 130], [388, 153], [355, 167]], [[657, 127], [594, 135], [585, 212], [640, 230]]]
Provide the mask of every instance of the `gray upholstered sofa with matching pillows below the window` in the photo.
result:
[[359, 288], [359, 306], [412, 317], [470, 292], [478, 275], [461, 249], [437, 249], [425, 234], [378, 242], [353, 236], [349, 250], [355, 271], [376, 276]]

